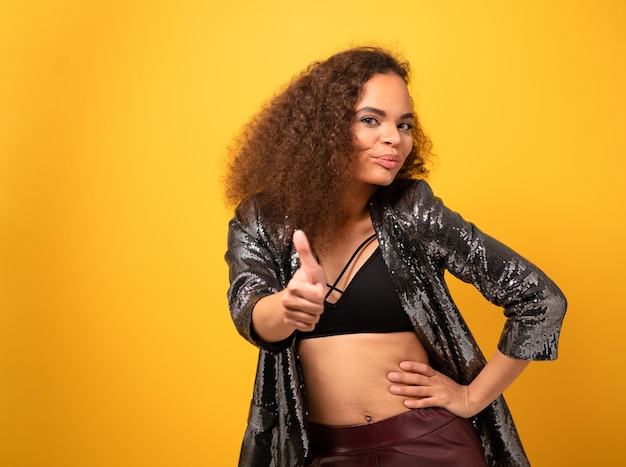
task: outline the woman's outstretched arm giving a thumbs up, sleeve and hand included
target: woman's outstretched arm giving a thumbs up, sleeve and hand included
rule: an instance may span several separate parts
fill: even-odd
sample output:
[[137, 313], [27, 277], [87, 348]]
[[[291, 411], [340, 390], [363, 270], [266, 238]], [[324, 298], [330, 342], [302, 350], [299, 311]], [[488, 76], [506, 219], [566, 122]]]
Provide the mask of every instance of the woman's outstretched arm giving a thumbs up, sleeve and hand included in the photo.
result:
[[[230, 269], [230, 311], [243, 337], [277, 351], [288, 345], [295, 330], [310, 331], [319, 321], [326, 277], [302, 231], [293, 235], [301, 267], [291, 278], [283, 277], [273, 249], [259, 233], [265, 230], [257, 225], [260, 221], [254, 207], [246, 209], [249, 211], [240, 213], [229, 225], [226, 262]], [[285, 282], [287, 285], [281, 287]]]

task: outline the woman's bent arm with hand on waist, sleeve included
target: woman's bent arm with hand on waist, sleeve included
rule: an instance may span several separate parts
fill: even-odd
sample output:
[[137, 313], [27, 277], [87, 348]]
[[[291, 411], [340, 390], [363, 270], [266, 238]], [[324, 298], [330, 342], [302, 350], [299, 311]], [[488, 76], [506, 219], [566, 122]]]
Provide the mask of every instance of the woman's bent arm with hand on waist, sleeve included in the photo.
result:
[[[498, 350], [461, 385], [428, 365], [402, 362], [389, 374], [391, 392], [407, 396], [408, 407], [445, 407], [469, 417], [493, 402], [529, 360], [553, 360], [567, 302], [538, 267], [446, 208], [427, 183], [410, 204], [416, 239], [426, 261], [473, 284], [507, 318]], [[457, 329], [457, 332], [459, 330]]]

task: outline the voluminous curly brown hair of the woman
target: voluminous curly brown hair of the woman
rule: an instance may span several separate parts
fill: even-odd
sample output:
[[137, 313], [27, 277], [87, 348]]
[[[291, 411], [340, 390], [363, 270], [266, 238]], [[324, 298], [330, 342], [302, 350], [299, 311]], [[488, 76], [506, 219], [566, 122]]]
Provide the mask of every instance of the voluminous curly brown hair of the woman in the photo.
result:
[[[355, 153], [354, 107], [363, 85], [388, 73], [409, 83], [409, 64], [376, 47], [348, 49], [309, 65], [230, 145], [227, 204], [263, 193], [258, 203], [270, 222], [303, 229], [313, 242], [325, 237], [341, 216], [343, 180]], [[432, 145], [418, 120], [412, 133], [413, 149], [398, 176], [423, 178]]]

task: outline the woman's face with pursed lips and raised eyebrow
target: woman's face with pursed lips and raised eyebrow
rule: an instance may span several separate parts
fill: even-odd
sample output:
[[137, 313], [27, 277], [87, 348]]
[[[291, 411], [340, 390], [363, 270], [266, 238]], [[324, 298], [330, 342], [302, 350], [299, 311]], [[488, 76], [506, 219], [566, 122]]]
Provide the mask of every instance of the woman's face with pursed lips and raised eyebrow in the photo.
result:
[[395, 73], [372, 76], [355, 111], [351, 128], [357, 153], [352, 178], [389, 185], [413, 147], [414, 117], [406, 83]]

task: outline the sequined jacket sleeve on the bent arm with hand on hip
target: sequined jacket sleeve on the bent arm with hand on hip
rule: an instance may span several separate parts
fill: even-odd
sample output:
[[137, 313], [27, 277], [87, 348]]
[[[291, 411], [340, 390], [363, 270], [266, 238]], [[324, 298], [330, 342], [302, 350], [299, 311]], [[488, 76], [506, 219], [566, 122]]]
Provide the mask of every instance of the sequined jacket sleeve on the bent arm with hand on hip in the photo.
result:
[[412, 204], [428, 256], [504, 308], [498, 349], [524, 360], [556, 359], [567, 308], [558, 286], [530, 261], [446, 208], [426, 182], [418, 187]]

